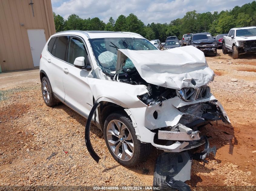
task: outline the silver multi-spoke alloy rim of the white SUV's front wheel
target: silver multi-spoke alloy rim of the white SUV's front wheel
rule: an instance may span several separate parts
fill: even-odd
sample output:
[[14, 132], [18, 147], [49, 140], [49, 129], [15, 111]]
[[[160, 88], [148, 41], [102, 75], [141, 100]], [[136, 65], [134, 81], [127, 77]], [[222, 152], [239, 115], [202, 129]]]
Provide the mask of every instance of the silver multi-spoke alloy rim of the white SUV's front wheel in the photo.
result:
[[131, 160], [134, 142], [127, 126], [119, 120], [112, 120], [107, 126], [107, 139], [111, 151], [122, 161]]

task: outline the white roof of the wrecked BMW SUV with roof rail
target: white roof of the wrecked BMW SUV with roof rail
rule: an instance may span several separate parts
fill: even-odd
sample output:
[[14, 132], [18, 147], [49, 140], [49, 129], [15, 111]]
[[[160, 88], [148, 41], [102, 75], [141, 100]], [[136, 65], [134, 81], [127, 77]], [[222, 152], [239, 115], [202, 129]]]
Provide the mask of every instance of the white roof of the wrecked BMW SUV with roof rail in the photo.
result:
[[53, 36], [69, 34], [84, 34], [89, 39], [93, 38], [111, 38], [111, 37], [120, 37], [120, 38], [144, 38], [140, 34], [132, 33], [132, 32], [113, 32], [113, 31], [82, 31], [82, 30], [66, 30], [55, 33]]

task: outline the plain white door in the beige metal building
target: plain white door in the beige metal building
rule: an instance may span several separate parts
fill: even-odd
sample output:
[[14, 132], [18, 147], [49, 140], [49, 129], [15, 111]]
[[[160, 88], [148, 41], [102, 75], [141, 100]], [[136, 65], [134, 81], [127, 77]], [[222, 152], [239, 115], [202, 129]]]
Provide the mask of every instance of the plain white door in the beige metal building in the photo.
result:
[[40, 55], [45, 46], [45, 30], [44, 29], [27, 29], [28, 40], [32, 53], [34, 67], [39, 66]]

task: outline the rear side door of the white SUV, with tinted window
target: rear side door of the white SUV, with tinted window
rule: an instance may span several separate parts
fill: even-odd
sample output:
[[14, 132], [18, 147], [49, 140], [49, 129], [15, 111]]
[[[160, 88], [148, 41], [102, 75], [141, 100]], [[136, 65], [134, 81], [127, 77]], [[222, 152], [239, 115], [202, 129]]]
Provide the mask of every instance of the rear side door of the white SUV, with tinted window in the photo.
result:
[[66, 65], [65, 53], [68, 45], [68, 36], [53, 37], [48, 43], [48, 52], [42, 55], [47, 60], [49, 81], [54, 94], [64, 100], [65, 92], [62, 82], [63, 68]]

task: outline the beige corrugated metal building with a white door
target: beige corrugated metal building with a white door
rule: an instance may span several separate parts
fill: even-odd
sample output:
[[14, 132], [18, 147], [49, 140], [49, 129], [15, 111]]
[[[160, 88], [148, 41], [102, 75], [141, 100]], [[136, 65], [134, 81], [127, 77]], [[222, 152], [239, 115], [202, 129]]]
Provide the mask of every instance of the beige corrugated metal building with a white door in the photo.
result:
[[0, 0], [0, 72], [39, 66], [54, 33], [51, 0]]

